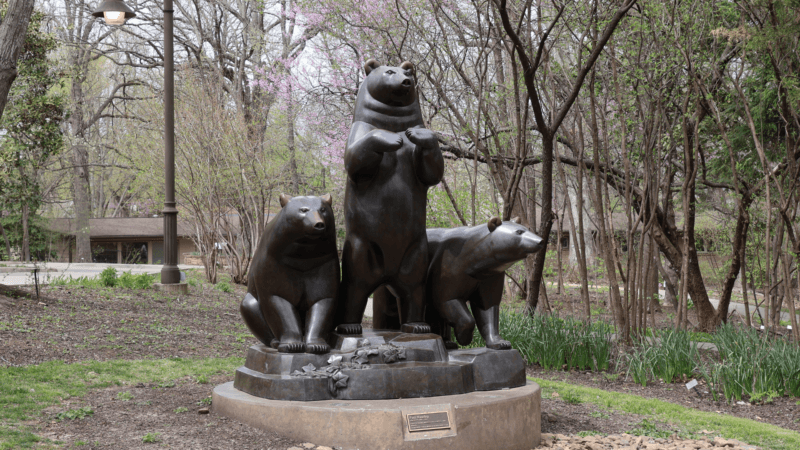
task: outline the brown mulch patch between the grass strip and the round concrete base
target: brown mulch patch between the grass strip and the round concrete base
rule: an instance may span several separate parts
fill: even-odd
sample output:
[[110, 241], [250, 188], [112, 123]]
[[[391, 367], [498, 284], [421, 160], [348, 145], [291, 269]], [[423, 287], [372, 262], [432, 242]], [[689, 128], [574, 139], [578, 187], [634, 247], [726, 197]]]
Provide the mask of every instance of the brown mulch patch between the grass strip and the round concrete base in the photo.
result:
[[[68, 448], [140, 449], [274, 449], [301, 445], [275, 433], [260, 431], [226, 417], [208, 413], [203, 402], [215, 385], [229, 377], [215, 377], [208, 384], [177, 380], [176, 386], [155, 384], [97, 389], [84, 400], [64, 402], [45, 410], [37, 428], [43, 437], [64, 442]], [[120, 399], [120, 393], [126, 394]], [[130, 395], [127, 395], [130, 394]], [[133, 398], [129, 398], [132, 396]], [[90, 406], [94, 414], [80, 420], [56, 419], [68, 409]], [[144, 442], [145, 436], [154, 442]]]

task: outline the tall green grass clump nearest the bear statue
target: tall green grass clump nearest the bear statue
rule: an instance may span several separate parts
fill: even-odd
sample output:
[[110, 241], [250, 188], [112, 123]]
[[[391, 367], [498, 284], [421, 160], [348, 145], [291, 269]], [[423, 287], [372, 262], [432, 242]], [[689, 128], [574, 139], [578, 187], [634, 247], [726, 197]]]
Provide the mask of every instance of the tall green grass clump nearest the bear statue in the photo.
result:
[[[545, 369], [608, 370], [611, 333], [607, 327], [587, 325], [555, 315], [536, 315], [500, 310], [500, 335], [511, 342], [528, 363]], [[477, 330], [470, 347], [483, 347]]]

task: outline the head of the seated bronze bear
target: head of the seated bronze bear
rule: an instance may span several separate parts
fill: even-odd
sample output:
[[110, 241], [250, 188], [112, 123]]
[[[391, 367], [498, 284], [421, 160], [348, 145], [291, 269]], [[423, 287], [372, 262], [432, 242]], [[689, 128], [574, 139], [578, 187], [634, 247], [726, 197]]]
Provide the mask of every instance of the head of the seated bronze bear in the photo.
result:
[[330, 194], [321, 197], [290, 197], [281, 194], [281, 216], [301, 240], [317, 240], [335, 234]]

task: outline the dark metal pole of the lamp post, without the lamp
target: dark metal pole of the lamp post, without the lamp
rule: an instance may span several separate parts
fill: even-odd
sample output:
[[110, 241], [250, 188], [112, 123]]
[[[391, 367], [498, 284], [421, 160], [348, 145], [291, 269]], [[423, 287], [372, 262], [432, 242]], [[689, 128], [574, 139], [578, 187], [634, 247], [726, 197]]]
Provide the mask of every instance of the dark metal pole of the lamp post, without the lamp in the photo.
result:
[[172, 0], [164, 0], [164, 267], [161, 284], [181, 281], [178, 269], [178, 210], [175, 208], [175, 67]]

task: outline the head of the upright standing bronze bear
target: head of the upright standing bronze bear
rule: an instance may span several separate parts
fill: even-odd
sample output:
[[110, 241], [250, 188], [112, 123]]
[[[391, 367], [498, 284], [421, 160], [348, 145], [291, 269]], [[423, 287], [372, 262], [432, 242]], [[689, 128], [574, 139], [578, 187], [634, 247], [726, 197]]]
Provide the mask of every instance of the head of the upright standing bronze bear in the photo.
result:
[[381, 66], [374, 59], [364, 64], [367, 91], [375, 100], [389, 106], [410, 106], [417, 101], [417, 81], [414, 64], [404, 62], [399, 67]]

